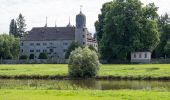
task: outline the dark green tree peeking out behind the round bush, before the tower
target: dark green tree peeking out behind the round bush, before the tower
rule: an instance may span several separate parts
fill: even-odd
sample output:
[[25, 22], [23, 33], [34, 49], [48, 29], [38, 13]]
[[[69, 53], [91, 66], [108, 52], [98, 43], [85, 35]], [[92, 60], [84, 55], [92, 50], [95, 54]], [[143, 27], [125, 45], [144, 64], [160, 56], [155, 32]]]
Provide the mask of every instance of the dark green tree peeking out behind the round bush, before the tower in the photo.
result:
[[71, 53], [72, 51], [74, 51], [74, 50], [75, 50], [76, 48], [78, 48], [78, 47], [82, 47], [81, 44], [78, 43], [78, 42], [73, 41], [73, 42], [70, 44], [70, 46], [68, 47], [67, 51], [66, 51], [65, 58], [68, 59], [69, 56], [70, 56], [70, 53]]

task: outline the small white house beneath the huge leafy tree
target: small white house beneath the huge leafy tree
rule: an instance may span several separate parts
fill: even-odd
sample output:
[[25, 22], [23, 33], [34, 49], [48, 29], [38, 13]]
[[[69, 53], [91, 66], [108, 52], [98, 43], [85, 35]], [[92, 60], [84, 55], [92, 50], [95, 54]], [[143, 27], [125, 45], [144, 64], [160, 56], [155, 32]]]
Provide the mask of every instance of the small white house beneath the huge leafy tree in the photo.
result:
[[131, 62], [132, 63], [150, 63], [151, 52], [132, 52]]

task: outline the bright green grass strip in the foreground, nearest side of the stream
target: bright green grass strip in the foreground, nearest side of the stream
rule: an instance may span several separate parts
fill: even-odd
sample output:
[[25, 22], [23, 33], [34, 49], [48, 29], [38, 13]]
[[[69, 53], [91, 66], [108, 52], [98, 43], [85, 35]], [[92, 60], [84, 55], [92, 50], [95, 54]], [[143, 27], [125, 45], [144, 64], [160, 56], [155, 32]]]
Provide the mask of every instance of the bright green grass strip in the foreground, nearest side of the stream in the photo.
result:
[[145, 90], [0, 90], [0, 100], [170, 100], [170, 92]]

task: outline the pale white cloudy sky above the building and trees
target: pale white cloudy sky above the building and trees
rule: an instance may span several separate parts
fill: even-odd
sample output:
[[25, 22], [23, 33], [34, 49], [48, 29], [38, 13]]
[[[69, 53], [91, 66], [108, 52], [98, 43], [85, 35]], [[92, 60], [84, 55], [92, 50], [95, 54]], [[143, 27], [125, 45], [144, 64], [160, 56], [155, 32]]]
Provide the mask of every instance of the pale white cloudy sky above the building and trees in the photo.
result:
[[[95, 33], [94, 23], [98, 19], [102, 4], [112, 0], [0, 0], [0, 33], [9, 32], [11, 19], [16, 19], [21, 13], [25, 16], [27, 31], [32, 27], [43, 27], [48, 18], [48, 26], [66, 26], [69, 17], [72, 25], [75, 25], [76, 15], [82, 12], [87, 18], [87, 28]], [[144, 4], [154, 2], [159, 7], [158, 13], [170, 14], [170, 0], [141, 0]]]

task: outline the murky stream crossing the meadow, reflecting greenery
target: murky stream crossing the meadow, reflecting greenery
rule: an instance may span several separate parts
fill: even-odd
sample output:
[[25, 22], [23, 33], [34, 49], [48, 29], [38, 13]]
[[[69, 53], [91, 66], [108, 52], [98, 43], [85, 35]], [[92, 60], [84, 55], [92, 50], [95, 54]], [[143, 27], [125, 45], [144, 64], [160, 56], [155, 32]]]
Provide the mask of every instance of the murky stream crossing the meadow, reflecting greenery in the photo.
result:
[[48, 89], [48, 90], [120, 90], [166, 89], [170, 81], [118, 81], [118, 80], [11, 80], [0, 79], [0, 89]]

